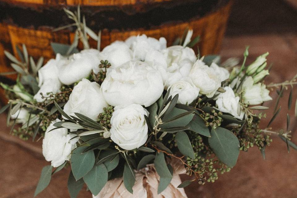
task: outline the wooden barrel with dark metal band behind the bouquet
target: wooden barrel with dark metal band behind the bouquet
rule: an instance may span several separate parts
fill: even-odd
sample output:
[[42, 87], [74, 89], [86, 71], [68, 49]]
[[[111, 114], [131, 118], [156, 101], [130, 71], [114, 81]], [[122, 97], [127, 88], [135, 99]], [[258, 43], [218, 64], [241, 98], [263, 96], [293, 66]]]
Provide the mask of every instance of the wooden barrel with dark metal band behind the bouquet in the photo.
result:
[[[200, 52], [215, 54], [220, 49], [232, 0], [0, 0], [0, 72], [12, 71], [4, 50], [18, 57], [16, 46], [24, 43], [33, 58], [43, 56], [47, 61], [54, 57], [51, 42], [70, 44], [74, 39], [71, 29], [52, 30], [72, 23], [63, 7], [75, 11], [79, 4], [87, 26], [95, 32], [102, 30], [101, 48], [143, 33], [165, 37], [171, 45], [190, 28], [193, 37], [200, 35]], [[97, 46], [92, 39], [90, 44]]]

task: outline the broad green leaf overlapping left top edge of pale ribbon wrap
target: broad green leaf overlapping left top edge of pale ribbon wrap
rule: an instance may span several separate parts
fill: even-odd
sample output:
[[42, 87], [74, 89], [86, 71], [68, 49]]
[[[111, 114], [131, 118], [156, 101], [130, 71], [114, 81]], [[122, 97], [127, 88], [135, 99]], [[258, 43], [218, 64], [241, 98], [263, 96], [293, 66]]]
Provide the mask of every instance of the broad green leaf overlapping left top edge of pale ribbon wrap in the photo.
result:
[[84, 176], [84, 182], [93, 195], [98, 195], [101, 189], [105, 186], [108, 179], [108, 172], [104, 164], [94, 166], [92, 170]]

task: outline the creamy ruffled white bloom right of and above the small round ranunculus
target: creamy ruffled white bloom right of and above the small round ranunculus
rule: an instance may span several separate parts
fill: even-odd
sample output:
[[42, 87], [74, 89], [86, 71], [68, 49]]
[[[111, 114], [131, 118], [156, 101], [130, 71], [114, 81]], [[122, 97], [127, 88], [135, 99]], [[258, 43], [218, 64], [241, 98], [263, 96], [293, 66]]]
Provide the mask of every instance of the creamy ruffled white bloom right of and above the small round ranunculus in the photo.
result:
[[221, 86], [221, 79], [216, 71], [201, 60], [195, 62], [189, 76], [196, 87], [200, 88], [200, 93], [209, 98], [213, 97]]

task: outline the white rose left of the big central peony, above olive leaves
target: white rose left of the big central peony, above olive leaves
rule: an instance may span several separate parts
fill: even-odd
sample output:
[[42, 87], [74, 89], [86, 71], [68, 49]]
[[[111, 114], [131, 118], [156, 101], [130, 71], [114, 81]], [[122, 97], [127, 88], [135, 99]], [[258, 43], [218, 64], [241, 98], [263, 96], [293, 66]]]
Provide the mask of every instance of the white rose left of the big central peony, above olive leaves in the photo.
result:
[[80, 113], [96, 120], [98, 115], [104, 112], [103, 108], [107, 106], [100, 85], [83, 79], [73, 88], [64, 111], [68, 115], [74, 116], [74, 113]]

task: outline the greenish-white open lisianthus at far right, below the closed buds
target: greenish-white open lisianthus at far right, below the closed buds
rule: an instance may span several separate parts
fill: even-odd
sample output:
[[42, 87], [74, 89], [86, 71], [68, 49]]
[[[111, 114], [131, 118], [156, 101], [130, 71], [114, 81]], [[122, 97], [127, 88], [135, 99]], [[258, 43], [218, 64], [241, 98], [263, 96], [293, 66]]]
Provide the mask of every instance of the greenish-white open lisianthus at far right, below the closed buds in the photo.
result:
[[261, 83], [254, 84], [254, 80], [251, 76], [248, 76], [243, 84], [243, 102], [249, 105], [259, 105], [262, 102], [272, 100], [269, 96], [269, 90]]

